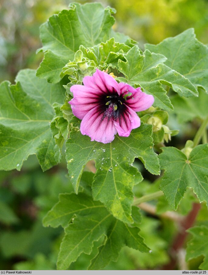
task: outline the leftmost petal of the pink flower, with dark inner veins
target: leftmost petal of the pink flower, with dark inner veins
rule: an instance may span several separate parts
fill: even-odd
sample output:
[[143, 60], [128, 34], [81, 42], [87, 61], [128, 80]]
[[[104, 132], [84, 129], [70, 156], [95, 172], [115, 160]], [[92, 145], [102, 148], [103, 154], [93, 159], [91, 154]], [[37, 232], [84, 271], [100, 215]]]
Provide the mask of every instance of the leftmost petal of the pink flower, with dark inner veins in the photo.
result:
[[68, 103], [71, 104], [73, 114], [79, 119], [87, 114], [89, 110], [100, 104], [100, 94], [90, 90], [88, 87], [83, 85], [73, 85], [70, 88], [74, 98]]

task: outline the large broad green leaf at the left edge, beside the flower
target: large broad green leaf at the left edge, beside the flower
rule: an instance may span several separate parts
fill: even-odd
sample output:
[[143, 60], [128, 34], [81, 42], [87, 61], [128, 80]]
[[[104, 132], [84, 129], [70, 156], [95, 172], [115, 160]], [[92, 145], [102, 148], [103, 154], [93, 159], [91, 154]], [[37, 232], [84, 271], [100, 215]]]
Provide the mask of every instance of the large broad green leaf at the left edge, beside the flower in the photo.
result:
[[61, 159], [50, 121], [51, 105], [64, 101], [64, 88], [38, 79], [34, 70], [20, 71], [16, 81], [16, 85], [5, 81], [0, 86], [0, 169], [20, 170], [30, 154], [37, 154], [44, 171]]

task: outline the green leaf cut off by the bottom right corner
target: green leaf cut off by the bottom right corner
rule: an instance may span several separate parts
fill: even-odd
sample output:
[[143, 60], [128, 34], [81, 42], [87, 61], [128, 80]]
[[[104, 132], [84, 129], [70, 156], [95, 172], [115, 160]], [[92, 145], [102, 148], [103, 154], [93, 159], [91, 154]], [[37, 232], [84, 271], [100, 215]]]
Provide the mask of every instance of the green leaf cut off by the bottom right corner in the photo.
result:
[[194, 226], [187, 230], [193, 237], [187, 244], [186, 260], [191, 260], [200, 255], [204, 256], [203, 263], [199, 268], [202, 270], [208, 269], [208, 227]]

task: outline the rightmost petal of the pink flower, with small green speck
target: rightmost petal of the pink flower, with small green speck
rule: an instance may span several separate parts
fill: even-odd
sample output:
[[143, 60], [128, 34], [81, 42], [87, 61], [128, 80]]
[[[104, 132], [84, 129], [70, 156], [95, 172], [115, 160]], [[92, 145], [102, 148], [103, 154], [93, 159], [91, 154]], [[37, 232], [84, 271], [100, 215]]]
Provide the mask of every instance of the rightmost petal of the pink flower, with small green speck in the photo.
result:
[[119, 83], [119, 87], [121, 90], [121, 96], [132, 93], [131, 96], [127, 97], [125, 104], [135, 112], [147, 110], [154, 103], [154, 97], [142, 92], [140, 87], [134, 89], [129, 84], [122, 82]]

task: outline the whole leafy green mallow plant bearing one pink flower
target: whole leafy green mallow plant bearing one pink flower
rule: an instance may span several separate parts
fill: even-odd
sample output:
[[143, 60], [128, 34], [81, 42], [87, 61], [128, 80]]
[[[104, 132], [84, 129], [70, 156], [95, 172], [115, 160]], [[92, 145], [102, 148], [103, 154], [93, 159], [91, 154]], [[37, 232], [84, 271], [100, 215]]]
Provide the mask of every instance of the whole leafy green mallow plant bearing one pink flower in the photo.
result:
[[0, 86], [0, 169], [66, 159], [69, 191], [43, 218], [64, 228], [57, 269], [86, 254], [86, 268], [104, 269], [123, 246], [141, 268], [179, 268], [186, 249], [208, 269], [208, 48], [188, 29], [142, 51], [113, 31], [114, 12], [75, 3], [41, 25], [39, 68]]

